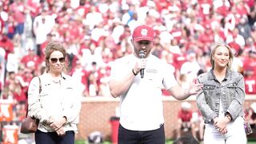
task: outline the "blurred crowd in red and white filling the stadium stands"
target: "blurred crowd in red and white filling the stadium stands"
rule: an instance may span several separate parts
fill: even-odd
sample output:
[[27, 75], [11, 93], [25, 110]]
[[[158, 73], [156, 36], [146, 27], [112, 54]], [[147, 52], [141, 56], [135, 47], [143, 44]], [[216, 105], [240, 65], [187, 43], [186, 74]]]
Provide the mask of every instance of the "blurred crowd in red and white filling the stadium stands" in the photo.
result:
[[53, 40], [65, 45], [66, 73], [83, 95], [110, 97], [111, 62], [133, 52], [131, 32], [141, 24], [154, 28], [153, 54], [182, 87], [210, 69], [211, 48], [225, 42], [246, 94], [256, 94], [255, 21], [254, 0], [0, 0], [1, 98], [17, 104], [15, 118], [24, 117], [27, 87], [44, 72]]

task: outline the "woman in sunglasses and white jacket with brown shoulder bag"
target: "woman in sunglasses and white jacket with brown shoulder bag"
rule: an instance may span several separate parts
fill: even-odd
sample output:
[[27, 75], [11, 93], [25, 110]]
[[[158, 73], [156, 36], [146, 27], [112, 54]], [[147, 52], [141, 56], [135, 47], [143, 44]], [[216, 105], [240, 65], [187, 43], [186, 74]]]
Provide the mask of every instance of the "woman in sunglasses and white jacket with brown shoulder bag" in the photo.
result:
[[74, 133], [78, 131], [81, 94], [74, 79], [62, 72], [65, 59], [64, 46], [50, 42], [46, 46], [46, 73], [30, 82], [28, 114], [39, 120], [37, 144], [74, 143]]

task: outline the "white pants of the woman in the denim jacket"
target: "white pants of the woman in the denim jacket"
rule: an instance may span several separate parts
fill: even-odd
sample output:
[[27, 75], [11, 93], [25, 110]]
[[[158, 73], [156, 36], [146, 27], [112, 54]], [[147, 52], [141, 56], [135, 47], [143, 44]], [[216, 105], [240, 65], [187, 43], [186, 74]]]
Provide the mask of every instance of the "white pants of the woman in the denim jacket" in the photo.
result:
[[206, 124], [204, 144], [246, 144], [247, 138], [243, 123], [242, 117], [236, 118], [234, 122], [230, 122], [226, 126], [226, 134], [221, 134], [213, 125]]

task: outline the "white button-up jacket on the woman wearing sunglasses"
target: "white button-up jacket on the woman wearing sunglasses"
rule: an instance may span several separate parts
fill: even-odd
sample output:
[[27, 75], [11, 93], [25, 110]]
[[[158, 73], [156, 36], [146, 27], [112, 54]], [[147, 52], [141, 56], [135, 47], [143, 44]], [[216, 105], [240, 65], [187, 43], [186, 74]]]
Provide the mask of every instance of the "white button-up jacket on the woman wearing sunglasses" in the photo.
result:
[[39, 79], [34, 77], [28, 90], [28, 115], [40, 120], [38, 130], [43, 132], [54, 131], [44, 124], [50, 117], [62, 118], [66, 116], [67, 122], [64, 129], [78, 130], [78, 116], [81, 109], [81, 96], [74, 79], [69, 75], [62, 74], [59, 82], [54, 82], [50, 74], [39, 76], [42, 91], [39, 94]]

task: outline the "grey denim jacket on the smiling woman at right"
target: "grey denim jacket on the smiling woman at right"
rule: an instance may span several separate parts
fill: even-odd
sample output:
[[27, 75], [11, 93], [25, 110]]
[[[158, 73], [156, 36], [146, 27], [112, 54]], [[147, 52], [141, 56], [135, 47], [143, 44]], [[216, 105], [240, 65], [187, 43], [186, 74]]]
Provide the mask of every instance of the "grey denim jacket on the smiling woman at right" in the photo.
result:
[[231, 121], [244, 117], [242, 105], [245, 101], [245, 83], [242, 74], [227, 69], [226, 77], [220, 83], [214, 71], [210, 70], [199, 75], [198, 82], [203, 84], [203, 88], [196, 101], [206, 123], [218, 117], [220, 101], [224, 113], [231, 115]]

